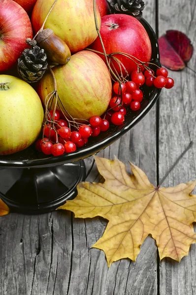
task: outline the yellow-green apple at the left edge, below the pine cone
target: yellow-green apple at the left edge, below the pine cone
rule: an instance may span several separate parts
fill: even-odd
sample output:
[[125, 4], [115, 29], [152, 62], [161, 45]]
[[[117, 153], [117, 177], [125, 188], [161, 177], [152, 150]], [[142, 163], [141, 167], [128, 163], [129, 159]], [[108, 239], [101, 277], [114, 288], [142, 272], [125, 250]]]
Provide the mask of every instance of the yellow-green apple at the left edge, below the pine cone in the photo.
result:
[[36, 91], [25, 81], [0, 75], [0, 155], [28, 148], [42, 122], [43, 108]]

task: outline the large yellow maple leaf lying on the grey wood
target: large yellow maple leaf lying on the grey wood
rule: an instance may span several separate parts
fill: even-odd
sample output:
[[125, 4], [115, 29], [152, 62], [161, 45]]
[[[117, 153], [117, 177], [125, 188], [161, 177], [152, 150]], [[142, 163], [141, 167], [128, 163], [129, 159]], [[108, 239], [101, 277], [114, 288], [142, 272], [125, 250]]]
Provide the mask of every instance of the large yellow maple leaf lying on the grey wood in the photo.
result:
[[102, 216], [109, 220], [105, 232], [93, 245], [105, 252], [108, 266], [122, 258], [135, 261], [148, 235], [156, 240], [160, 259], [180, 262], [188, 255], [196, 234], [196, 181], [175, 187], [156, 188], [145, 173], [131, 164], [128, 175], [117, 158], [95, 156], [104, 183], [81, 182], [78, 195], [59, 209], [70, 210], [75, 217]]

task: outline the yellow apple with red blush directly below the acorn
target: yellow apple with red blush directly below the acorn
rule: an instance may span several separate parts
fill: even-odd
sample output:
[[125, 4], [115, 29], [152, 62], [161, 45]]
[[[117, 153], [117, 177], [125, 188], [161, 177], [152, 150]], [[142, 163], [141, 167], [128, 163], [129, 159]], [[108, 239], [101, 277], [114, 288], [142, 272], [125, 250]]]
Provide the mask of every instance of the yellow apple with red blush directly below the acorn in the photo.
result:
[[[63, 104], [73, 118], [89, 120], [107, 110], [112, 83], [107, 66], [97, 54], [87, 50], [77, 52], [67, 64], [53, 67], [53, 72], [57, 80], [59, 105], [62, 108]], [[52, 75], [47, 72], [37, 88], [43, 103], [53, 90]]]

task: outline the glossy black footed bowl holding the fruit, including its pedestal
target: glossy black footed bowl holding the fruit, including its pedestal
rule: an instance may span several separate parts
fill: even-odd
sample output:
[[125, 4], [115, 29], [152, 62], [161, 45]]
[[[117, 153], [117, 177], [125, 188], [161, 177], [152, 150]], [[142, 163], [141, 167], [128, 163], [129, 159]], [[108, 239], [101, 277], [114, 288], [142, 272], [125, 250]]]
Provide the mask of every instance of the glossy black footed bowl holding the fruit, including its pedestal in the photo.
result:
[[[151, 40], [152, 62], [160, 66], [156, 34], [144, 19], [140, 22]], [[86, 178], [83, 159], [111, 145], [138, 123], [153, 107], [161, 89], [143, 86], [142, 91], [145, 99], [139, 111], [133, 113], [129, 109], [123, 125], [111, 126], [73, 153], [48, 157], [32, 145], [23, 151], [0, 156], [0, 198], [12, 212], [24, 214], [50, 212], [74, 198], [77, 184]]]

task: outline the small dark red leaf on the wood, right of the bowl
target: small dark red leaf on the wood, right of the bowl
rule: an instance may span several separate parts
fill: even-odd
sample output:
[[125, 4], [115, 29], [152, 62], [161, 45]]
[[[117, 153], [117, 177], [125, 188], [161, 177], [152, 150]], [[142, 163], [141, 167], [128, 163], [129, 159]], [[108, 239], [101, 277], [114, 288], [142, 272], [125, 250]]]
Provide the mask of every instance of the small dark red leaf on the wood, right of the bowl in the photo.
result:
[[171, 70], [182, 70], [193, 55], [191, 40], [178, 30], [166, 31], [158, 41], [161, 63]]

